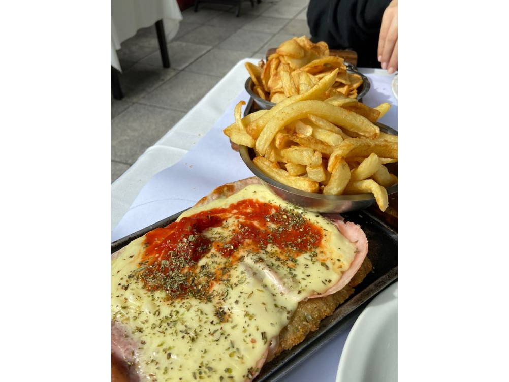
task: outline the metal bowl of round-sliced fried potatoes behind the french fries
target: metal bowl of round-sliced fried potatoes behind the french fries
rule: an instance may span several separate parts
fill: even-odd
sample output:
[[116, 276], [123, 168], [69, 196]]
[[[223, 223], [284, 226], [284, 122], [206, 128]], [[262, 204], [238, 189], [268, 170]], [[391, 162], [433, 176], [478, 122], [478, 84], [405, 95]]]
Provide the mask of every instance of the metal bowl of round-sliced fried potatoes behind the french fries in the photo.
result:
[[341, 57], [329, 56], [323, 41], [313, 43], [306, 36], [294, 37], [279, 45], [276, 52], [258, 65], [245, 64], [249, 73], [245, 89], [263, 109], [282, 100], [306, 93], [332, 71], [334, 83], [323, 94], [324, 99], [343, 95], [361, 100], [370, 90], [369, 79]]

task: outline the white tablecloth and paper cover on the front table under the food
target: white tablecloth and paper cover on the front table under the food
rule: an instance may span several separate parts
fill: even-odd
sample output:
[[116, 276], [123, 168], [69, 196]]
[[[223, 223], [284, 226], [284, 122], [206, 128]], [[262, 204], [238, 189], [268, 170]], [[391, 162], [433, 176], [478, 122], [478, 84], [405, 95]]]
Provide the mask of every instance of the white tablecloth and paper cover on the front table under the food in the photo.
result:
[[[222, 129], [234, 122], [235, 104], [249, 96], [244, 89], [244, 59], [156, 144], [111, 184], [111, 241], [192, 206], [215, 187], [252, 176]], [[360, 68], [372, 83], [363, 102], [392, 104], [380, 120], [398, 129], [398, 100], [390, 90], [393, 75]], [[245, 107], [245, 106], [244, 106]], [[115, 228], [114, 228], [115, 227]], [[357, 312], [357, 315], [360, 312]], [[353, 323], [352, 323], [353, 324]], [[337, 365], [351, 325], [340, 336], [282, 377], [281, 382], [335, 381]]]

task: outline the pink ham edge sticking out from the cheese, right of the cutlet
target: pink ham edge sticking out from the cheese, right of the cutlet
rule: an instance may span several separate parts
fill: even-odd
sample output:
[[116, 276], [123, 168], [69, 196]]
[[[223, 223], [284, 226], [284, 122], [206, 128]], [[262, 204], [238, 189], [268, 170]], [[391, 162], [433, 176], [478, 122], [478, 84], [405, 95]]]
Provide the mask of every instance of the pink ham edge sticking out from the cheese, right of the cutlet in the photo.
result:
[[360, 265], [367, 255], [366, 234], [364, 231], [362, 231], [358, 224], [352, 222], [345, 223], [345, 219], [343, 219], [343, 216], [340, 214], [322, 213], [322, 216], [325, 217], [325, 219], [327, 219], [333, 225], [335, 225], [337, 229], [343, 234], [343, 236], [345, 236], [348, 241], [355, 245], [355, 256], [352, 263], [350, 264], [350, 268], [348, 268], [346, 272], [343, 273], [340, 281], [338, 281], [337, 284], [331, 286], [322, 294], [314, 294], [308, 298], [323, 297], [341, 290], [350, 282], [350, 280], [352, 280], [352, 277], [354, 277], [356, 272], [359, 270]]

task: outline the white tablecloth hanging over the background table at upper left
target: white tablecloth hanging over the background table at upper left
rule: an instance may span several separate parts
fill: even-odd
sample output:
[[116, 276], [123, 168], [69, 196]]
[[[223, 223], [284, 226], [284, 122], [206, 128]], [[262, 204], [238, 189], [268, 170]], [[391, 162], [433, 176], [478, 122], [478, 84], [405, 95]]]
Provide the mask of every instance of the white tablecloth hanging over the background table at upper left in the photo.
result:
[[161, 19], [169, 41], [177, 34], [182, 20], [176, 0], [111, 0], [111, 66], [122, 71], [117, 56], [120, 44]]

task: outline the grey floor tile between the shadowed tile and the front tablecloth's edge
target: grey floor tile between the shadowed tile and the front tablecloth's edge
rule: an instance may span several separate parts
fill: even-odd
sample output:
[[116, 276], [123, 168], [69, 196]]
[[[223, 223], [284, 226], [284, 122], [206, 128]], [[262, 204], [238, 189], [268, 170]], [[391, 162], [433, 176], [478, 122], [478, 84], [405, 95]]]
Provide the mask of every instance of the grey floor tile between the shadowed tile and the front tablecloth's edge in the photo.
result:
[[170, 78], [149, 95], [140, 99], [139, 102], [188, 111], [200, 101], [220, 79], [219, 77], [210, 75], [183, 71], [173, 78]]

